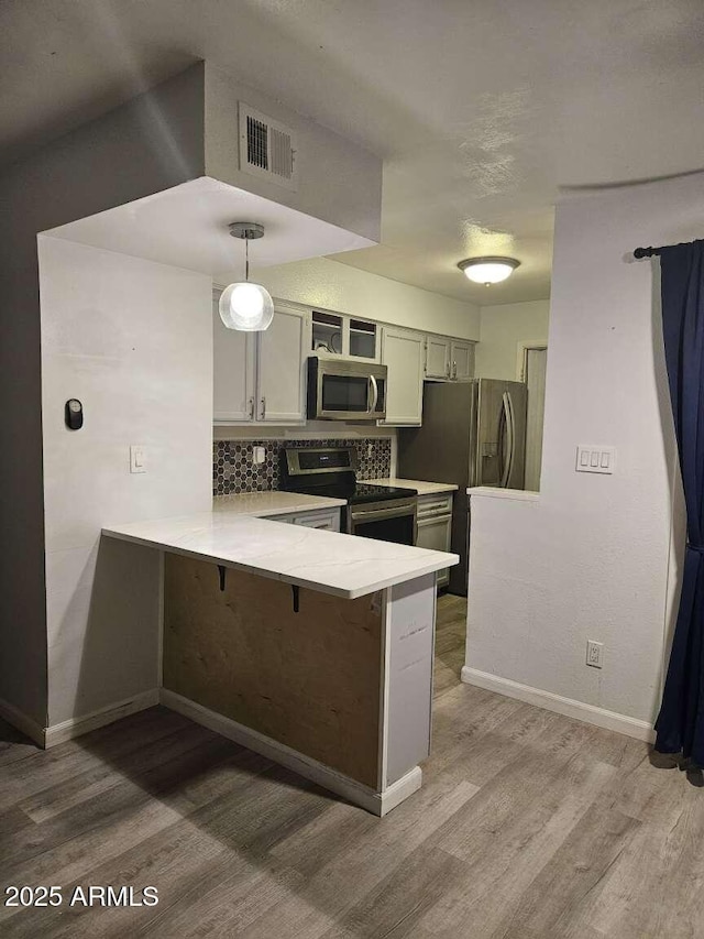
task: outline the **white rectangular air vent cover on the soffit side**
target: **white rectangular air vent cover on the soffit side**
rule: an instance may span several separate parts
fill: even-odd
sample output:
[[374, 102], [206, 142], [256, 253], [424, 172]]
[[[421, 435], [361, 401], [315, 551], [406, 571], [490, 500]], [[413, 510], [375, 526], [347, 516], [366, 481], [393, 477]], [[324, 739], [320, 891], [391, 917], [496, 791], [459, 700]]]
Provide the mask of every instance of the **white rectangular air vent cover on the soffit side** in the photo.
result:
[[240, 170], [287, 189], [298, 184], [293, 130], [244, 101], [240, 101]]

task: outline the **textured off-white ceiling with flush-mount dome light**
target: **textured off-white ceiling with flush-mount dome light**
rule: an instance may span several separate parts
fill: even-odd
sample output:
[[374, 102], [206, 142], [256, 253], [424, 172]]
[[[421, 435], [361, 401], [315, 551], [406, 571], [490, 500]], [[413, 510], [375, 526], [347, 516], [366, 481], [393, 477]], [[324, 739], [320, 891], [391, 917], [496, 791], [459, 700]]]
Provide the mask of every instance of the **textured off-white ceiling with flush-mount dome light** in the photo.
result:
[[[338, 260], [535, 299], [562, 187], [704, 168], [703, 41], [701, 0], [3, 0], [0, 160], [207, 58], [384, 157], [383, 243]], [[521, 267], [471, 285], [486, 253]]]

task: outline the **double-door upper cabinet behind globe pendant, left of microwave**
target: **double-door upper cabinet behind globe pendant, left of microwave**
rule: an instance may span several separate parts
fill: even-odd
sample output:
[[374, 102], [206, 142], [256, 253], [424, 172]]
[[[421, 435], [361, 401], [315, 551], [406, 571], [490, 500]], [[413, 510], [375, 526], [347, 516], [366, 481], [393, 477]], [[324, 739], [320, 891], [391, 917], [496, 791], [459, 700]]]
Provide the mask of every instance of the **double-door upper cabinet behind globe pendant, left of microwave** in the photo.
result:
[[[219, 292], [218, 292], [219, 296]], [[216, 424], [301, 424], [310, 319], [277, 304], [263, 332], [227, 329], [213, 301], [213, 419]]]

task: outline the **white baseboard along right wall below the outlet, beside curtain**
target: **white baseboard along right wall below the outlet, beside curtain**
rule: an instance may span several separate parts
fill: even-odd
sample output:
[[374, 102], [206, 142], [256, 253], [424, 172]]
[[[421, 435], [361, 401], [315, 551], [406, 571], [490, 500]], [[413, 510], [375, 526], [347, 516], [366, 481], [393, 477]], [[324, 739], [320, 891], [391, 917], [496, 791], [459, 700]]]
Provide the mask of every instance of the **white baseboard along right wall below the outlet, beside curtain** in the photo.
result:
[[492, 675], [488, 672], [470, 668], [469, 665], [462, 668], [462, 681], [465, 685], [476, 685], [477, 688], [485, 688], [487, 691], [497, 691], [507, 698], [517, 698], [528, 705], [536, 705], [548, 711], [556, 711], [558, 714], [595, 724], [605, 730], [615, 730], [617, 733], [624, 733], [647, 743], [652, 743], [656, 739], [652, 724], [647, 721], [629, 718], [626, 714], [616, 713], [616, 711], [607, 711], [594, 705], [586, 705], [584, 701], [578, 701], [574, 698], [563, 698], [561, 695], [553, 695], [552, 691], [543, 691], [541, 688], [532, 688], [530, 685], [512, 681], [510, 678], [501, 678], [498, 675]]

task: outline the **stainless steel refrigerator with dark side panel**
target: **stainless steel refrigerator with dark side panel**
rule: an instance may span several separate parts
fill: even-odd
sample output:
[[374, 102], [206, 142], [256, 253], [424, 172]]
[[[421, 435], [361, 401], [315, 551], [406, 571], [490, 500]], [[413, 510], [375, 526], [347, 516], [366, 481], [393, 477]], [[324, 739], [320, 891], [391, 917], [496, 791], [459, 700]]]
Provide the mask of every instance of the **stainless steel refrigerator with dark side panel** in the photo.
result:
[[466, 596], [470, 547], [468, 487], [522, 489], [526, 385], [499, 379], [426, 382], [422, 427], [399, 430], [398, 476], [459, 487], [452, 506], [450, 592]]

